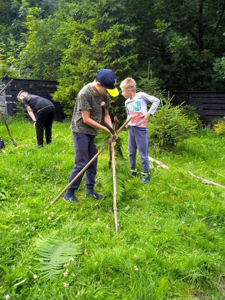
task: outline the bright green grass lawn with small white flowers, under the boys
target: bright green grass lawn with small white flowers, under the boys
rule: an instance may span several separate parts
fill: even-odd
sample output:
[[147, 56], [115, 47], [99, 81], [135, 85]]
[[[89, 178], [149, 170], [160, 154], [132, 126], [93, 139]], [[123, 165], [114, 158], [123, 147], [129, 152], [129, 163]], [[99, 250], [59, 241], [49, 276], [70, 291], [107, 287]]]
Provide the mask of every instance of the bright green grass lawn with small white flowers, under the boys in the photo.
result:
[[[35, 143], [30, 122], [9, 119], [9, 127], [18, 145]], [[127, 158], [127, 131], [121, 135]], [[6, 142], [0, 152], [0, 298], [224, 297], [225, 189], [187, 173], [225, 185], [224, 138], [204, 129], [171, 151], [151, 145], [149, 155], [170, 170], [153, 163], [149, 184], [141, 185], [140, 177], [127, 182], [117, 201], [115, 234], [112, 193], [104, 193], [101, 182], [107, 151], [99, 156], [96, 176], [96, 191], [105, 200], [86, 198], [82, 180], [79, 203], [59, 199], [50, 205], [67, 184], [74, 163], [69, 122], [54, 122], [53, 142], [43, 148], [15, 148], [2, 123], [0, 136]], [[139, 159], [137, 170], [140, 174]], [[82, 254], [69, 263], [66, 276], [63, 267], [56, 280], [44, 281], [34, 246], [39, 234], [51, 232], [80, 243]]]

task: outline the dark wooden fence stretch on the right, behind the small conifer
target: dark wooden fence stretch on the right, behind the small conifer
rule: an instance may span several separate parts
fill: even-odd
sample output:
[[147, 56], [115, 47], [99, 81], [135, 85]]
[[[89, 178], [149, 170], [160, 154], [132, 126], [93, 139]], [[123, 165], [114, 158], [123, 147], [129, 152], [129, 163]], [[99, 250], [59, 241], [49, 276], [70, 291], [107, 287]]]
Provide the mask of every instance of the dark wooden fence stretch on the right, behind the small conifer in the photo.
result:
[[178, 105], [188, 104], [195, 107], [196, 113], [204, 123], [216, 117], [225, 116], [225, 91], [175, 91], [172, 103]]

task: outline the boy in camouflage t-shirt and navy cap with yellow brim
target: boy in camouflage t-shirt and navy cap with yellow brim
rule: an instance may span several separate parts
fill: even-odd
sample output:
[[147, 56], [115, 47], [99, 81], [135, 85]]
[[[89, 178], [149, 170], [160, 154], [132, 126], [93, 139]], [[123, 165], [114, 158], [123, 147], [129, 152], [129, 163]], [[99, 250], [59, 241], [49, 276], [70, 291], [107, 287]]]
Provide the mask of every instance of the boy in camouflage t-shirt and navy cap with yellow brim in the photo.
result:
[[[105, 102], [104, 121], [111, 126], [111, 119], [108, 114], [110, 107], [109, 95], [117, 96], [118, 90], [115, 87], [115, 74], [109, 69], [99, 69], [95, 80], [81, 88], [77, 95], [73, 110], [70, 129], [73, 136], [75, 164], [69, 176], [69, 182], [80, 172], [87, 162], [97, 153], [94, 137], [98, 129], [109, 130], [99, 124], [101, 117], [101, 101]], [[95, 199], [102, 196], [94, 191], [97, 159], [85, 171], [86, 195], [91, 195]], [[78, 202], [75, 190], [78, 189], [82, 180], [81, 174], [67, 189], [63, 196], [65, 201]]]

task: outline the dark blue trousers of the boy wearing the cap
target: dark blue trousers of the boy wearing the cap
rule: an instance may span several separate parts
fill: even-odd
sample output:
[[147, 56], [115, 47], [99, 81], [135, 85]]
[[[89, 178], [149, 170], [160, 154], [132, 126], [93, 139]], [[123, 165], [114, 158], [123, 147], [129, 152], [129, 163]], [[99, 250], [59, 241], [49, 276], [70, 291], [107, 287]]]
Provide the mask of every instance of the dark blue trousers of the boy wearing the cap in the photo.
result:
[[[87, 164], [87, 162], [97, 153], [94, 144], [94, 135], [85, 133], [72, 133], [74, 154], [75, 154], [75, 164], [69, 176], [69, 182], [81, 171], [81, 169]], [[97, 172], [97, 158], [89, 165], [85, 171], [85, 184], [88, 191], [93, 190], [95, 184], [95, 176]], [[74, 192], [82, 180], [82, 173], [75, 182], [68, 188], [70, 191]]]

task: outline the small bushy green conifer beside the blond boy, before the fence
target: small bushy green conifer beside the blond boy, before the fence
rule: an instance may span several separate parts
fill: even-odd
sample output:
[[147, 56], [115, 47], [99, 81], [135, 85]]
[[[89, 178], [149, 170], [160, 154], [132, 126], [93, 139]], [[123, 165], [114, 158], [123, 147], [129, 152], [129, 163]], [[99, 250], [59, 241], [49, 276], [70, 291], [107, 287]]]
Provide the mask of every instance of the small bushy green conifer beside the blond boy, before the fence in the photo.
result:
[[179, 106], [172, 106], [169, 95], [161, 98], [152, 123], [149, 126], [149, 139], [159, 147], [169, 148], [195, 132], [197, 123], [189, 119]]

